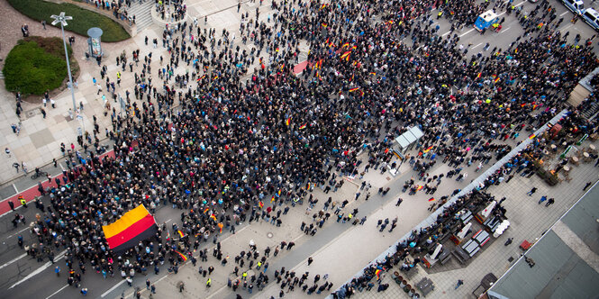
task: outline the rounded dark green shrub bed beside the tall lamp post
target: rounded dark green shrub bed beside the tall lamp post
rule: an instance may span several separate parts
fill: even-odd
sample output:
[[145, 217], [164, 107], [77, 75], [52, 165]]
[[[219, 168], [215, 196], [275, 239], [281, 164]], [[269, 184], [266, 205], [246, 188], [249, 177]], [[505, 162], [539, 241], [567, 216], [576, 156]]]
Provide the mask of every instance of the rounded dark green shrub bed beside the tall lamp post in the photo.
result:
[[[78, 72], [68, 46], [71, 70], [74, 77]], [[5, 60], [6, 90], [23, 95], [43, 95], [47, 90], [58, 88], [67, 78], [67, 61], [62, 39], [32, 36], [18, 41]]]

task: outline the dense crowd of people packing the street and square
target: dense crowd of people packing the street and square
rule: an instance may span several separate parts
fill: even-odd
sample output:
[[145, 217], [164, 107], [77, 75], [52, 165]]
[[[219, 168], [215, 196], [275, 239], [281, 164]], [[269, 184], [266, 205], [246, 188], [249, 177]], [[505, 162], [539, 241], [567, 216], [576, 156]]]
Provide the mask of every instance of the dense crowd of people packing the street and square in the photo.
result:
[[[126, 94], [124, 114], [104, 100], [113, 123], [105, 135], [114, 142], [114, 157], [65, 152], [68, 179], [50, 190], [50, 206], [38, 204], [42, 213], [32, 225], [30, 253], [43, 259], [67, 249], [71, 279], [84, 274], [86, 265], [104, 277], [116, 272], [132, 279], [148, 268], [159, 273], [165, 259], [168, 269], [177, 272], [185, 261], [177, 251], [193, 256], [192, 249], [212, 239], [218, 244], [214, 257], [225, 266], [218, 242], [223, 228], [234, 232], [241, 222], [260, 219], [278, 226], [300, 200], [309, 198], [310, 212], [314, 186], [335, 192], [344, 176], [395, 168], [389, 149], [409, 127], [418, 126], [424, 136], [410, 160], [416, 178], [406, 182], [404, 191], [434, 194], [443, 178], [465, 179], [467, 174], [458, 170], [430, 174], [440, 162], [431, 158], [441, 157], [460, 170], [501, 159], [512, 149], [503, 140], [547, 122], [578, 79], [597, 66], [588, 43], [570, 44], [567, 34], [550, 25], [526, 27], [505, 49], [470, 50], [453, 25], [452, 33], [443, 36], [432, 27], [433, 5], [440, 2], [272, 1], [272, 19], [259, 21], [259, 9], [265, 7], [259, 6], [255, 14], [242, 14], [239, 32], [216, 32], [199, 23], [171, 25], [162, 34], [165, 57], [153, 49], [134, 51], [131, 58], [123, 52], [117, 58], [122, 73], [98, 70], [109, 99]], [[473, 23], [487, 5], [458, 1], [440, 9], [457, 27]], [[547, 6], [543, 1], [538, 7]], [[235, 42], [236, 36], [251, 50], [241, 49], [246, 47]], [[305, 41], [310, 46], [308, 67], [298, 77], [294, 66]], [[156, 78], [151, 76], [156, 64], [150, 64], [158, 59]], [[128, 73], [135, 86], [120, 86], [121, 74]], [[115, 77], [117, 88], [111, 81]], [[596, 130], [586, 122], [576, 128]], [[80, 144], [97, 147], [91, 140], [99, 135], [95, 125]], [[528, 151], [540, 154], [542, 142]], [[360, 152], [367, 158], [361, 159]], [[513, 172], [529, 165], [519, 156], [481, 187], [509, 181]], [[362, 193], [369, 196], [368, 189]], [[152, 213], [162, 205], [179, 209], [180, 224], [171, 230], [162, 224], [154, 238], [115, 255], [102, 225], [138, 204]], [[303, 224], [302, 231], [316, 233], [331, 215], [329, 205], [332, 211], [331, 198], [322, 213], [309, 213], [313, 223]], [[358, 222], [357, 210], [343, 213], [339, 206], [334, 212], [339, 220], [355, 217], [353, 224]], [[182, 231], [183, 237], [167, 240], [167, 231]], [[257, 264], [263, 271], [246, 278], [248, 267]], [[234, 272], [241, 280], [229, 285], [246, 288], [250, 279], [250, 293], [251, 285], [260, 289], [268, 283], [266, 265], [268, 253], [260, 258], [251, 246], [235, 258]], [[202, 267], [200, 273], [205, 276]], [[283, 268], [271, 281], [291, 291], [303, 285], [304, 276]], [[305, 284], [304, 290], [331, 289], [330, 282], [317, 282]]]

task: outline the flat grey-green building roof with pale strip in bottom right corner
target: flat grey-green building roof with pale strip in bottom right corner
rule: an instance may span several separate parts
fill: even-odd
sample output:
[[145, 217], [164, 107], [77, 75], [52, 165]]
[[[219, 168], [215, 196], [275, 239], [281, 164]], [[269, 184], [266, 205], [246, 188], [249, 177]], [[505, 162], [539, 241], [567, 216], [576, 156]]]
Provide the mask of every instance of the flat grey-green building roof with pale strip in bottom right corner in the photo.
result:
[[599, 294], [599, 186], [595, 184], [519, 258], [490, 298], [596, 298]]

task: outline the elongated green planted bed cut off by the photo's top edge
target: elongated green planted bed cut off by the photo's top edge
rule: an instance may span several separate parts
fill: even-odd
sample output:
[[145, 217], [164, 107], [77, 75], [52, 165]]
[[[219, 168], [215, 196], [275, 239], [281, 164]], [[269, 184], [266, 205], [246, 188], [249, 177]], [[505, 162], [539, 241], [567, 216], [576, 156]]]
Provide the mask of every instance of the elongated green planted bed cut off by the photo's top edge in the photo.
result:
[[[89, 28], [99, 27], [104, 32], [102, 41], [123, 41], [131, 37], [121, 24], [114, 22], [111, 18], [77, 5], [55, 4], [42, 0], [8, 0], [8, 3], [21, 14], [27, 15], [33, 20], [40, 22], [46, 20], [48, 25], [54, 21], [50, 15], [65, 12], [66, 15], [73, 17], [73, 20], [67, 21], [68, 25], [65, 30], [79, 35], [87, 36]], [[60, 25], [58, 24], [58, 26]]]

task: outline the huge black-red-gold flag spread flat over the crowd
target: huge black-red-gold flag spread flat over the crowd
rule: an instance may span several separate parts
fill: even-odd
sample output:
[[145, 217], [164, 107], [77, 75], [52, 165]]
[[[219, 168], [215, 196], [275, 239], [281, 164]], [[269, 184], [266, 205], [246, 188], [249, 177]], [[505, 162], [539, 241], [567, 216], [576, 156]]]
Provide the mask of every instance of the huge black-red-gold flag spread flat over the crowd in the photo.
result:
[[118, 254], [154, 236], [158, 226], [154, 216], [140, 204], [116, 222], [102, 226], [102, 230], [108, 247]]

